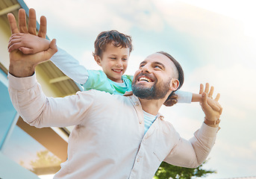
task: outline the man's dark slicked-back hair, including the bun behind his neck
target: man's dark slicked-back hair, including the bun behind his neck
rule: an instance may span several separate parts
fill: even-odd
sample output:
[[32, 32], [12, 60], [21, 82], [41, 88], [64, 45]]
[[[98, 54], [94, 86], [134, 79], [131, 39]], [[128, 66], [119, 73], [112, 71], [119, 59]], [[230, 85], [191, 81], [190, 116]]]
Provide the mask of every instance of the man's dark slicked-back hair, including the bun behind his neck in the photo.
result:
[[[174, 69], [174, 73], [178, 73], [177, 75], [178, 75], [178, 81], [180, 82], [180, 84], [178, 85], [178, 88], [177, 88], [177, 90], [178, 89], [180, 89], [181, 87], [182, 87], [182, 85], [183, 85], [183, 83], [184, 83], [184, 72], [183, 72], [183, 69], [182, 69], [182, 67], [181, 67], [181, 64], [180, 63], [178, 63], [178, 61], [177, 60], [175, 60], [175, 58], [174, 57], [172, 57], [172, 55], [170, 55], [170, 54], [168, 54], [168, 53], [166, 53], [166, 52], [164, 52], [164, 51], [157, 51], [157, 53], [159, 53], [159, 54], [163, 54], [163, 55], [165, 55], [166, 57], [169, 57], [169, 59], [170, 60], [172, 60], [172, 62], [175, 64], [175, 67], [176, 67], [176, 69]], [[178, 72], [177, 72], [178, 71]], [[175, 75], [175, 74], [174, 74]], [[175, 91], [177, 91], [177, 90], [175, 90]], [[172, 100], [172, 95], [175, 95], [175, 93], [174, 92], [172, 92], [169, 96], [168, 96], [168, 98], [166, 99], [166, 101], [165, 101], [165, 105], [166, 106], [169, 106], [169, 101], [171, 101]], [[176, 101], [177, 102], [177, 101]]]

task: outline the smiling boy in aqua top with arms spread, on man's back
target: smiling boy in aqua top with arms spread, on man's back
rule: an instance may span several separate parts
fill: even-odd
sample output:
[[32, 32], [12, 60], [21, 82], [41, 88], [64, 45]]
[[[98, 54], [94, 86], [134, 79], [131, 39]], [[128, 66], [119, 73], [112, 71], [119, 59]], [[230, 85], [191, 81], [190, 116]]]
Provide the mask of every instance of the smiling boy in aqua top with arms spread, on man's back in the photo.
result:
[[[13, 34], [8, 50], [19, 48], [24, 54], [31, 54], [48, 49], [49, 44], [49, 40], [31, 34]], [[119, 95], [131, 91], [133, 76], [124, 75], [133, 49], [131, 37], [115, 30], [103, 31], [96, 38], [94, 47], [93, 57], [103, 71], [85, 69], [78, 60], [61, 48], [51, 57], [51, 61], [69, 78], [81, 84], [84, 90], [95, 89]], [[201, 95], [177, 91], [169, 97], [165, 105], [172, 106], [177, 101], [201, 101]]]

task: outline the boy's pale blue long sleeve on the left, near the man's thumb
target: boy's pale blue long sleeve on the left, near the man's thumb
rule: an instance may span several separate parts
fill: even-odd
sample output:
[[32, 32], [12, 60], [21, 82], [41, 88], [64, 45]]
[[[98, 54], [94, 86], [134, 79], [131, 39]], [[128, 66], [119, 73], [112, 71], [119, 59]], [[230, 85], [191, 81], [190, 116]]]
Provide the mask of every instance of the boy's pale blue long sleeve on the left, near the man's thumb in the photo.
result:
[[61, 48], [50, 59], [57, 68], [78, 84], [85, 84], [88, 79], [87, 69], [78, 60]]

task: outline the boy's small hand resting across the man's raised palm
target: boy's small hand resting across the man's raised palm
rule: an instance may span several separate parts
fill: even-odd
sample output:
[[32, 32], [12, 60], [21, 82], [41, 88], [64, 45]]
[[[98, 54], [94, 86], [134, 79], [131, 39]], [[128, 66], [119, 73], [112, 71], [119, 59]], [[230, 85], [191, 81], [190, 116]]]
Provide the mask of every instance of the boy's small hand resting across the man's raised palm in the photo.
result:
[[19, 49], [23, 54], [35, 54], [46, 51], [50, 47], [51, 41], [33, 34], [17, 33], [10, 37], [8, 51]]

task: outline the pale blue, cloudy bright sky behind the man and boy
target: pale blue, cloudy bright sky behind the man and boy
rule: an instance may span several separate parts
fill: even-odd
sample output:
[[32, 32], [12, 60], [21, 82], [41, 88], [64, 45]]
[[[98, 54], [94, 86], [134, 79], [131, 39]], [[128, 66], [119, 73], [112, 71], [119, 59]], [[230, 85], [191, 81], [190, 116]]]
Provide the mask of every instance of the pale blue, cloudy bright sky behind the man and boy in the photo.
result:
[[[43, 2], [43, 3], [42, 3]], [[198, 92], [209, 82], [223, 107], [221, 130], [207, 169], [207, 178], [256, 175], [256, 24], [253, 1], [174, 0], [25, 0], [46, 16], [48, 35], [80, 60], [87, 69], [99, 69], [92, 57], [101, 31], [116, 29], [131, 35], [134, 51], [126, 74], [155, 51], [172, 54], [184, 68], [182, 90]], [[161, 113], [189, 139], [204, 114], [199, 104], [163, 107]]]

